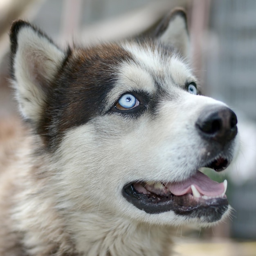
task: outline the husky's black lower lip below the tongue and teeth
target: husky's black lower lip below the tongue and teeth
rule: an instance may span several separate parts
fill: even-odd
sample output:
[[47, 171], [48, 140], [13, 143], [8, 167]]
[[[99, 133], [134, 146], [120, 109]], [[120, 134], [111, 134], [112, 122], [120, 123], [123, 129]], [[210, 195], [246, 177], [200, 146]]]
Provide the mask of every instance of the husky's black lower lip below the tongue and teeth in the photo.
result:
[[178, 215], [191, 218], [204, 217], [206, 222], [220, 220], [227, 211], [229, 203], [227, 197], [194, 200], [192, 195], [169, 195], [160, 200], [148, 195], [138, 193], [133, 183], [126, 184], [122, 190], [124, 198], [138, 209], [150, 214], [159, 214], [166, 211], [174, 211]]

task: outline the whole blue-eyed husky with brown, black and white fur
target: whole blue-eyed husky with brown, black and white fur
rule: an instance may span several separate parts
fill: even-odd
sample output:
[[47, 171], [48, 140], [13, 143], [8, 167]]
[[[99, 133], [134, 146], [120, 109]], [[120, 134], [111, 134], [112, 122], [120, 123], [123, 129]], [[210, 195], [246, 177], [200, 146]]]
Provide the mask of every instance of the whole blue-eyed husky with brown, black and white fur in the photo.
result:
[[200, 95], [184, 11], [95, 47], [22, 20], [10, 39], [27, 130], [1, 171], [1, 256], [168, 256], [173, 227], [227, 216], [227, 182], [198, 169], [229, 165], [237, 119]]

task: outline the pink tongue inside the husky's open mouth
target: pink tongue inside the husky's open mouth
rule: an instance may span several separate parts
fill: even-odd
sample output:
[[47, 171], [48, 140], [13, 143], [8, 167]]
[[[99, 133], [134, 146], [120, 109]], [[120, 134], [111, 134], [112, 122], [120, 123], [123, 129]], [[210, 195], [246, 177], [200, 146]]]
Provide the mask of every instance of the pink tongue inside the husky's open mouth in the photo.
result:
[[194, 185], [201, 195], [215, 197], [221, 195], [225, 188], [224, 184], [211, 180], [207, 175], [197, 171], [188, 180], [165, 184], [173, 195], [184, 195], [192, 193], [191, 185]]

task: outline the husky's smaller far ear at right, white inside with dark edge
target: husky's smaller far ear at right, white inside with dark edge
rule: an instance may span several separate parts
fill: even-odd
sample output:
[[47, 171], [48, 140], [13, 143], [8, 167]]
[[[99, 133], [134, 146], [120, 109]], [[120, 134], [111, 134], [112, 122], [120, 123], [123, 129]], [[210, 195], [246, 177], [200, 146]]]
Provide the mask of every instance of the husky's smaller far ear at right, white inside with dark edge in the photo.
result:
[[189, 57], [189, 32], [183, 9], [174, 9], [164, 17], [153, 36], [161, 43], [172, 45], [182, 56]]

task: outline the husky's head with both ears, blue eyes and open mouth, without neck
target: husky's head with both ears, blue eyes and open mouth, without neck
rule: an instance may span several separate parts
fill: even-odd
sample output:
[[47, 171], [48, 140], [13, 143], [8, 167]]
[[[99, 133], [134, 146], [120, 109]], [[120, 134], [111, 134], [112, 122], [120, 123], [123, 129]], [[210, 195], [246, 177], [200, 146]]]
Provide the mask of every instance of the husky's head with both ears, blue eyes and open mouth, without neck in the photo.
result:
[[200, 95], [184, 11], [149, 36], [89, 48], [63, 51], [24, 21], [10, 38], [16, 97], [56, 207], [167, 225], [225, 216], [226, 182], [198, 169], [229, 165], [236, 115]]

